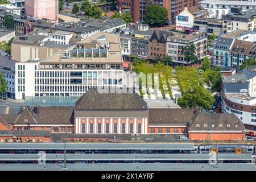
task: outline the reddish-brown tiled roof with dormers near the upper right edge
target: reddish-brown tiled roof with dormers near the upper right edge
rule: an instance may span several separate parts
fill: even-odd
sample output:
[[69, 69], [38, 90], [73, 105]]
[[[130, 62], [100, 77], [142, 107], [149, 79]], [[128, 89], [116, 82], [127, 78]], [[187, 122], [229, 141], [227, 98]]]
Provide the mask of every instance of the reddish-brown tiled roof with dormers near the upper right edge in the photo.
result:
[[249, 52], [251, 51], [251, 48], [253, 48], [253, 46], [253, 42], [235, 40], [230, 52], [239, 53], [240, 55], [249, 55]]

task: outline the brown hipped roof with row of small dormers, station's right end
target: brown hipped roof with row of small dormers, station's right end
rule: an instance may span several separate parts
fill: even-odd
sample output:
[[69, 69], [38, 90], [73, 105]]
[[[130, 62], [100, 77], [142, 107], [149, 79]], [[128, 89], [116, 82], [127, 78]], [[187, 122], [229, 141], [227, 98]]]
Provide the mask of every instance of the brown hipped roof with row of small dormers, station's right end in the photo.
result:
[[[236, 115], [226, 113], [199, 113], [192, 119], [188, 131], [245, 131], [245, 126]], [[207, 126], [205, 126], [207, 124]], [[222, 124], [222, 127], [220, 126]], [[214, 127], [212, 126], [214, 125]], [[228, 127], [230, 125], [230, 127]], [[235, 126], [237, 125], [237, 127]]]

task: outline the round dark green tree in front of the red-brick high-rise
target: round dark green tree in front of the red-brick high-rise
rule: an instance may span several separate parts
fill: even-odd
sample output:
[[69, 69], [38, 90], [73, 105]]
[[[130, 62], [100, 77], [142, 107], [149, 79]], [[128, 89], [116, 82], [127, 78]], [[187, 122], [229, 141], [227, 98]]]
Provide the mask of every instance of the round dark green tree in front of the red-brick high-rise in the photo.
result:
[[151, 26], [160, 27], [168, 22], [168, 10], [159, 5], [150, 5], [146, 11], [146, 23]]

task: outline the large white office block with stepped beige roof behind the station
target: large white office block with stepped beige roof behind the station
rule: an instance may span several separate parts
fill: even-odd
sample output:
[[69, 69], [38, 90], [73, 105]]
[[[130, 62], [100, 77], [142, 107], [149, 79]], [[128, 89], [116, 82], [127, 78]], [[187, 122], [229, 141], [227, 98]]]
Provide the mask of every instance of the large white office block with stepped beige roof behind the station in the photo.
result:
[[121, 87], [122, 64], [119, 35], [100, 32], [45, 59], [17, 63], [15, 98], [82, 96], [92, 87]]

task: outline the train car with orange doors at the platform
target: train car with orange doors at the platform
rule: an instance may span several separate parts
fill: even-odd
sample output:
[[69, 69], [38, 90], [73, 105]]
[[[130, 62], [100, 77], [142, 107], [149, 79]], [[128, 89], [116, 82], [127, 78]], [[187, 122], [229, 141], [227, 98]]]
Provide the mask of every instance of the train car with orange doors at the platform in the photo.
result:
[[[217, 144], [200, 144], [199, 153], [216, 153]], [[254, 146], [252, 144], [218, 144], [218, 153], [220, 154], [253, 154]]]

